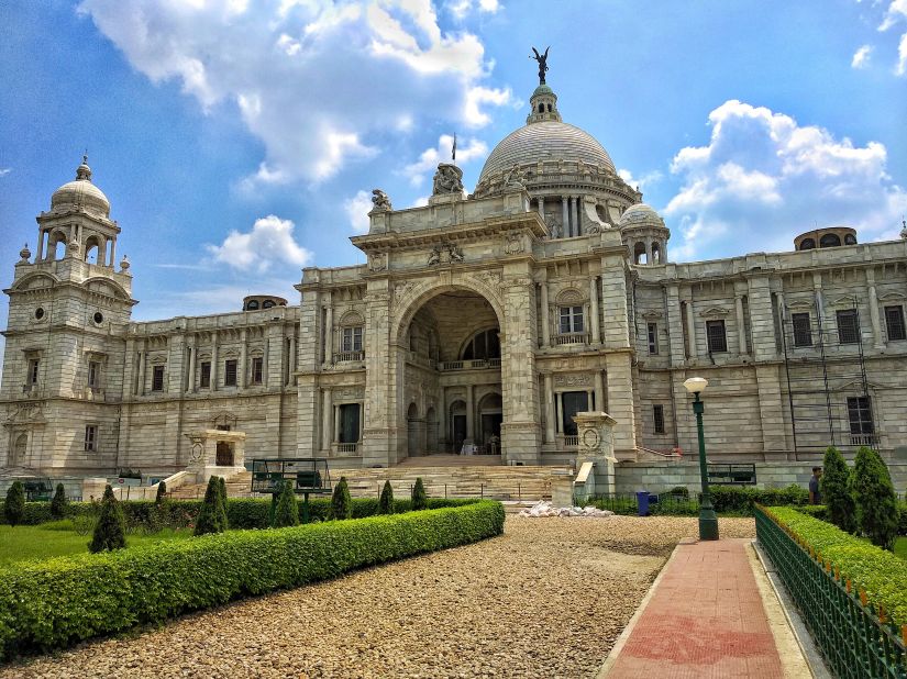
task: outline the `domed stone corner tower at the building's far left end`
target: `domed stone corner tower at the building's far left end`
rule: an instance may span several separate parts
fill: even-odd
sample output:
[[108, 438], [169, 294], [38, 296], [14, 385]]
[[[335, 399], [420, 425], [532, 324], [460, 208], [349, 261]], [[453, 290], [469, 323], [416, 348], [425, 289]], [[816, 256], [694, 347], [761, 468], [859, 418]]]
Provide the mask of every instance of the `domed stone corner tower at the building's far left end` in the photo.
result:
[[0, 468], [115, 466], [132, 275], [113, 266], [120, 227], [87, 158], [37, 218], [34, 260], [14, 269], [0, 408]]

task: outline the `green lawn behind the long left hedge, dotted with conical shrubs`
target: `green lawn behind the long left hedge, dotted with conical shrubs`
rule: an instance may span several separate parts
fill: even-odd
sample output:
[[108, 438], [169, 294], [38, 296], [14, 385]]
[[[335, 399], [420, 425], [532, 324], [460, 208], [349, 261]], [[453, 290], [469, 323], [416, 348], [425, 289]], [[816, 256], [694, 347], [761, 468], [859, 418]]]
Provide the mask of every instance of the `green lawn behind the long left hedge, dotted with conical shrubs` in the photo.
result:
[[[150, 545], [162, 539], [185, 539], [191, 531], [165, 528], [154, 535], [126, 535], [126, 547]], [[91, 535], [79, 535], [69, 521], [37, 526], [0, 525], [0, 566], [26, 559], [44, 559], [69, 554], [87, 554]]]

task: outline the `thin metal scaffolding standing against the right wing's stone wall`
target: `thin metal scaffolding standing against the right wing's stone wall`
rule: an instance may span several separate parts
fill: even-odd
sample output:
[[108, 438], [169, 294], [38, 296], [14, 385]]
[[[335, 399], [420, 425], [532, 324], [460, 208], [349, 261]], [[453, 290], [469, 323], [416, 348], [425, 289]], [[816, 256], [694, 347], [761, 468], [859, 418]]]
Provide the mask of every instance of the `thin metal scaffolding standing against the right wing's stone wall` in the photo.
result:
[[842, 312], [853, 314], [855, 332], [848, 336], [847, 329], [831, 326], [818, 299], [806, 323], [806, 314], [782, 310], [782, 347], [795, 459], [799, 459], [801, 453], [815, 457], [830, 445], [849, 452], [878, 444], [860, 310], [854, 301], [852, 308], [837, 310], [839, 319]]

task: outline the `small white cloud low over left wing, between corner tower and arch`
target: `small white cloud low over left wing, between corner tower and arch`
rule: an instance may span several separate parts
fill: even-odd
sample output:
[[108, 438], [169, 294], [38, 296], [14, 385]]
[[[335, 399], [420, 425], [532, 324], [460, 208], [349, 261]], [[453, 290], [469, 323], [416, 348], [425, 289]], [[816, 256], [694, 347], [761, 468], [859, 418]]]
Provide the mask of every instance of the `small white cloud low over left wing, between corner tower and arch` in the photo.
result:
[[312, 253], [292, 237], [295, 225], [269, 214], [255, 221], [252, 231], [231, 231], [221, 245], [207, 245], [214, 261], [239, 271], [262, 274], [275, 264], [306, 266]]

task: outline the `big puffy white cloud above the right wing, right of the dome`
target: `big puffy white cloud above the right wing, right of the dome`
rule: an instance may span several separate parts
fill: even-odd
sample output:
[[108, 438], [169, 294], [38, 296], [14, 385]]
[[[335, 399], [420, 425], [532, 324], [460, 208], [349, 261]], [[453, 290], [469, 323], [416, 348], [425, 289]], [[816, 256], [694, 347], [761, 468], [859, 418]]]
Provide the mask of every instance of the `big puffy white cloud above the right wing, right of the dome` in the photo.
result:
[[726, 252], [731, 241], [738, 252], [785, 251], [816, 223], [848, 224], [863, 241], [897, 237], [907, 191], [886, 174], [884, 145], [854, 146], [737, 100], [709, 122], [709, 144], [683, 148], [672, 163], [684, 182], [664, 210], [682, 241], [675, 257]]

